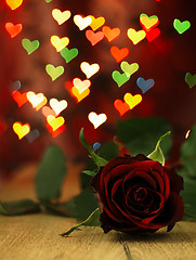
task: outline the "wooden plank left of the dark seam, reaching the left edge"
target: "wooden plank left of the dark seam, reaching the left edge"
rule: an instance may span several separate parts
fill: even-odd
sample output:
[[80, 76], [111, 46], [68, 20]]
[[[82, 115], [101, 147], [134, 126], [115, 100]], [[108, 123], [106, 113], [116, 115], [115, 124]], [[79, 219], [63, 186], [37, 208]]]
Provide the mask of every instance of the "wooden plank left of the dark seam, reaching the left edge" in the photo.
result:
[[47, 214], [0, 218], [2, 260], [126, 259], [116, 234], [100, 227], [84, 227], [69, 237], [58, 234], [75, 220]]

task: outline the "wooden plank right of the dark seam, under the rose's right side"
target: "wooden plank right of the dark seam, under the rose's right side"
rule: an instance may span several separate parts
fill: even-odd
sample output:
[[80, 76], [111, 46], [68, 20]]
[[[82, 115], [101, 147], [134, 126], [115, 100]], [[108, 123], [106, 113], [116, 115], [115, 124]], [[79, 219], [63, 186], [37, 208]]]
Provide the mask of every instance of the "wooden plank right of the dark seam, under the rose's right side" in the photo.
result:
[[162, 229], [151, 235], [120, 236], [133, 260], [196, 259], [196, 222], [178, 222], [170, 233]]

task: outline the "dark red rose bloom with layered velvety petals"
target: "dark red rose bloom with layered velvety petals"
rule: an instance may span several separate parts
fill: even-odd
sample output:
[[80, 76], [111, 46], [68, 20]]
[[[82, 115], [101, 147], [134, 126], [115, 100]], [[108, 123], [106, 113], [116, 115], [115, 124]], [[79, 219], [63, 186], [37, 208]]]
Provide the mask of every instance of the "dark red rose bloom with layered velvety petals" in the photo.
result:
[[170, 231], [184, 213], [182, 177], [142, 154], [109, 160], [93, 177], [92, 187], [105, 233]]

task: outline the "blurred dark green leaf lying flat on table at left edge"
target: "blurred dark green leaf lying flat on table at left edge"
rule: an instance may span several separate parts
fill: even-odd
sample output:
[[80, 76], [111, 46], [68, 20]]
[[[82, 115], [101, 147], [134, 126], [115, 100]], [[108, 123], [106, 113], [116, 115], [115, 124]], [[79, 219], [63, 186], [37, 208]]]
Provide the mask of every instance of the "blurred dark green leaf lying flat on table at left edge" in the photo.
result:
[[[3, 208], [4, 211], [2, 211], [1, 208]], [[1, 207], [0, 207], [0, 213], [6, 214], [6, 216], [37, 213], [40, 211], [41, 209], [39, 205], [32, 202], [31, 199], [1, 203]]]

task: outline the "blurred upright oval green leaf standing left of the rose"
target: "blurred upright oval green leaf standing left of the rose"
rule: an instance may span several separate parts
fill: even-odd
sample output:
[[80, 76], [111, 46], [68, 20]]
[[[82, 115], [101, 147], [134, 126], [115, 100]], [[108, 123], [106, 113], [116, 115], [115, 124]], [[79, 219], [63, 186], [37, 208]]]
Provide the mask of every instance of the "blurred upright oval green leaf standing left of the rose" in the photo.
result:
[[65, 157], [62, 150], [52, 144], [44, 153], [36, 177], [37, 196], [41, 203], [57, 199], [66, 176]]

